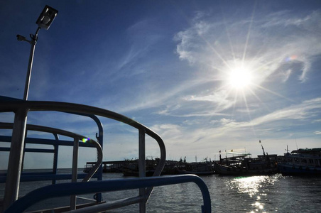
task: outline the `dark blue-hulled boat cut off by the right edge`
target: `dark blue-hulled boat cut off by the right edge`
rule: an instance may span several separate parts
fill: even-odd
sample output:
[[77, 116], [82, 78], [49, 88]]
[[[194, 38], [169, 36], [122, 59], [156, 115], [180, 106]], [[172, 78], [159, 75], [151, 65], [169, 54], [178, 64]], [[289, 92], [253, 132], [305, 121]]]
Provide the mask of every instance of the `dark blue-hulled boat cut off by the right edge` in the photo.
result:
[[282, 175], [321, 175], [321, 148], [299, 148], [278, 161]]

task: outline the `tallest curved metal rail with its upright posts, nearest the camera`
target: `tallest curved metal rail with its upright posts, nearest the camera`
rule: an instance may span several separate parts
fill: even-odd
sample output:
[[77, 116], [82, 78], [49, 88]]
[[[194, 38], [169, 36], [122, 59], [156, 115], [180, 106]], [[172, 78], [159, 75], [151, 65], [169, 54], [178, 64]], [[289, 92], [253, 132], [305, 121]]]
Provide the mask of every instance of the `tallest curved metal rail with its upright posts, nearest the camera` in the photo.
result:
[[[163, 143], [162, 138], [160, 138], [160, 136], [158, 136], [158, 134], [152, 131], [151, 129], [148, 129], [148, 127], [143, 126], [143, 124], [140, 124], [137, 121], [134, 121], [133, 119], [129, 119], [128, 117], [123, 116], [121, 114], [117, 114], [114, 111], [100, 109], [97, 107], [89, 107], [82, 104], [72, 104], [72, 103], [65, 103], [65, 102], [36, 102], [36, 101], [21, 101], [21, 100], [11, 101], [10, 99], [4, 102], [0, 102], [0, 112], [8, 112], [8, 111], [13, 111], [15, 113], [15, 123], [13, 125], [12, 141], [17, 141], [17, 143], [14, 143], [14, 144], [11, 142], [11, 147], [15, 146], [13, 150], [15, 151], [17, 150], [17, 152], [13, 153], [13, 155], [16, 155], [16, 156], [11, 157], [10, 155], [10, 158], [9, 158], [10, 171], [8, 170], [9, 176], [15, 177], [16, 174], [20, 175], [20, 172], [18, 171], [19, 166], [17, 166], [19, 165], [18, 151], [21, 151], [23, 149], [23, 143], [24, 143], [23, 136], [25, 131], [25, 128], [23, 128], [23, 125], [26, 125], [26, 118], [27, 118], [28, 111], [62, 111], [62, 112], [67, 112], [71, 114], [86, 114], [86, 115], [92, 114], [94, 116], [103, 116], [109, 119], [114, 119], [124, 124], [133, 126], [134, 128], [138, 129], [138, 136], [139, 136], [139, 140], [138, 140], [139, 141], [139, 144], [138, 144], [139, 145], [139, 151], [138, 151], [139, 152], [138, 154], [139, 155], [138, 156], [139, 157], [138, 158], [139, 159], [138, 160], [139, 176], [143, 178], [146, 175], [146, 168], [145, 168], [145, 165], [146, 165], [145, 135], [146, 134], [148, 136], [151, 136], [151, 138], [154, 138], [157, 141], [158, 146], [160, 147], [160, 160], [153, 176], [159, 176], [164, 168], [166, 153], [165, 153], [165, 145]], [[12, 163], [11, 163], [11, 160], [12, 160]], [[13, 185], [11, 188], [16, 187], [16, 185], [14, 184], [14, 181], [15, 180], [9, 181], [8, 185]], [[8, 191], [10, 191], [10, 189]], [[143, 197], [143, 200], [139, 199], [136, 201], [140, 203], [141, 212], [144, 212], [144, 209], [146, 209], [146, 202], [150, 197], [152, 191], [153, 191], [153, 186], [140, 188], [139, 196]], [[6, 195], [6, 191], [5, 191], [5, 197], [4, 197], [5, 208], [9, 207], [9, 205], [15, 200], [15, 199], [12, 200], [12, 198], [14, 198], [13, 195]], [[136, 198], [134, 197], [133, 199], [135, 200]], [[121, 203], [121, 201], [119, 203]]]

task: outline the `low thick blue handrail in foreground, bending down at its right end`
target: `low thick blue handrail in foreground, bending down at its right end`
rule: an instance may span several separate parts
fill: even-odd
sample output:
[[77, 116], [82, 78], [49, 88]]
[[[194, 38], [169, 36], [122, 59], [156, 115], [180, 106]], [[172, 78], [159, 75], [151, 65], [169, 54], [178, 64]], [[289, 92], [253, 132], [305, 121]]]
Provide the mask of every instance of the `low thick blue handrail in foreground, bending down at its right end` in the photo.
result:
[[[95, 192], [112, 192], [119, 190], [134, 190], [144, 187], [157, 187], [161, 185], [173, 185], [183, 182], [195, 182], [200, 188], [203, 197], [203, 205], [201, 207], [202, 212], [211, 212], [211, 199], [210, 193], [207, 189], [205, 182], [196, 175], [170, 175], [161, 177], [150, 177], [150, 178], [131, 178], [131, 179], [121, 179], [121, 180], [102, 180], [94, 182], [71, 182], [71, 183], [61, 183], [57, 185], [48, 185], [41, 187], [37, 190], [29, 192], [24, 197], [14, 202], [9, 209], [6, 209], [6, 213], [18, 213], [23, 212], [31, 205], [53, 197], [62, 197], [70, 195], [84, 195]], [[131, 200], [124, 200], [121, 206], [126, 204], [133, 204], [137, 200], [144, 200], [144, 197], [136, 197], [136, 199], [131, 198]], [[99, 212], [108, 209], [114, 209], [113, 204], [99, 204], [93, 207], [85, 207], [83, 209], [78, 209], [73, 212], [84, 212], [91, 210], [92, 212]]]

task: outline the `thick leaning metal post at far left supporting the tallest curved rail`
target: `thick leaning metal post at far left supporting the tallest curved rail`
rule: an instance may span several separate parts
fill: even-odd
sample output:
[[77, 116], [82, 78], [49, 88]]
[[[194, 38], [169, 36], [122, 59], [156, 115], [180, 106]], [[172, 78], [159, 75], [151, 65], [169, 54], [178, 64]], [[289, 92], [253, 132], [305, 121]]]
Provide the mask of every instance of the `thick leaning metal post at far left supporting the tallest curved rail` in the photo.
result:
[[4, 210], [18, 199], [27, 114], [28, 109], [21, 108], [15, 112], [14, 116], [6, 188], [4, 190]]

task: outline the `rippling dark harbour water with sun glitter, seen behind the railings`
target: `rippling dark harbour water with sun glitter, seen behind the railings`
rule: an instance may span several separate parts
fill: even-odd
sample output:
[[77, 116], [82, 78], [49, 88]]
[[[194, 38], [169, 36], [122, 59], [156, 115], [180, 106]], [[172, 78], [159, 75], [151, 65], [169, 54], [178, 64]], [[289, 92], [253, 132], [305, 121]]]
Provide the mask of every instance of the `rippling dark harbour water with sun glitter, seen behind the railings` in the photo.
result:
[[[60, 170], [60, 173], [63, 173]], [[321, 178], [276, 175], [232, 177], [200, 176], [210, 191], [212, 212], [321, 212]], [[104, 180], [124, 177], [121, 173], [104, 173]], [[132, 177], [129, 177], [132, 178]], [[65, 181], [60, 181], [65, 182]], [[21, 182], [20, 195], [48, 185], [48, 181]], [[4, 193], [4, 184], [0, 185]], [[138, 195], [138, 190], [107, 192], [104, 201], [114, 201]], [[92, 195], [83, 197], [92, 198]], [[50, 207], [55, 200], [40, 202], [38, 207]], [[155, 187], [146, 212], [201, 212], [202, 195], [193, 182]], [[38, 207], [31, 207], [34, 210]], [[139, 212], [138, 204], [109, 212]]]

